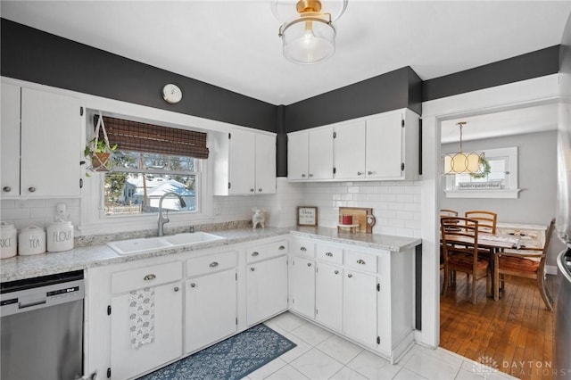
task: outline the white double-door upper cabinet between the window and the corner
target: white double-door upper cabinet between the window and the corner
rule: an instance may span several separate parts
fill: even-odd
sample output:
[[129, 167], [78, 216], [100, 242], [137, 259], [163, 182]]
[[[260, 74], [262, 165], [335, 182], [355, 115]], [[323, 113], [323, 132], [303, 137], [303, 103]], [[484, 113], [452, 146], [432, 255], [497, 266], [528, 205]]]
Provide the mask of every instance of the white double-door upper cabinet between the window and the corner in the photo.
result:
[[214, 194], [276, 193], [276, 136], [242, 128], [213, 133]]

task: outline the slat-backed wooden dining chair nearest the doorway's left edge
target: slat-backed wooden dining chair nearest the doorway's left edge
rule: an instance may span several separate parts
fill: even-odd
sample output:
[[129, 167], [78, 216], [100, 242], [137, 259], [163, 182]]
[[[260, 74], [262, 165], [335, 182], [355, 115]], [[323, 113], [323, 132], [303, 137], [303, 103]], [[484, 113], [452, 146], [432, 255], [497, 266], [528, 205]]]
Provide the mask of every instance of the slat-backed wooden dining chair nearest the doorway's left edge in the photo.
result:
[[448, 293], [452, 272], [472, 277], [472, 303], [476, 304], [476, 282], [486, 278], [486, 294], [490, 293], [490, 262], [478, 256], [479, 222], [476, 219], [442, 217], [440, 232], [444, 254], [443, 295]]

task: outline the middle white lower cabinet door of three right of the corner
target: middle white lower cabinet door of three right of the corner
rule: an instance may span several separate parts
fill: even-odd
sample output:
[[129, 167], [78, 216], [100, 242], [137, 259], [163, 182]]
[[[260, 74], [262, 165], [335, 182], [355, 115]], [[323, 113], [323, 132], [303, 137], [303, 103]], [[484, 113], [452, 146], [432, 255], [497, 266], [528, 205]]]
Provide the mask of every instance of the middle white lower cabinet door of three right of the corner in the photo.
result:
[[315, 275], [315, 318], [341, 331], [343, 317], [343, 269], [319, 263]]

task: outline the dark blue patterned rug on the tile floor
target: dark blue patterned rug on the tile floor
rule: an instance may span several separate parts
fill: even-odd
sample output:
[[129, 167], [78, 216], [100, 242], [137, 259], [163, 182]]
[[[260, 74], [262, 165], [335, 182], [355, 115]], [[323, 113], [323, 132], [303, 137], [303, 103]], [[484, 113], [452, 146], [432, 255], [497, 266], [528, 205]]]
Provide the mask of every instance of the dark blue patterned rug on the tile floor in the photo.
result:
[[139, 380], [240, 379], [295, 346], [295, 343], [261, 324]]

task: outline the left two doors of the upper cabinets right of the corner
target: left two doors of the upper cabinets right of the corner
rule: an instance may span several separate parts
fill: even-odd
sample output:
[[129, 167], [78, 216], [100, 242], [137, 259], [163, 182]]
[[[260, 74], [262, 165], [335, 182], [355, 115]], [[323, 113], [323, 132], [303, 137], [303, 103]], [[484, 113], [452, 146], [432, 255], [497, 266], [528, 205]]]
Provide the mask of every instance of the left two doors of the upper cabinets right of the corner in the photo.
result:
[[288, 135], [287, 178], [333, 178], [333, 128], [313, 128]]

